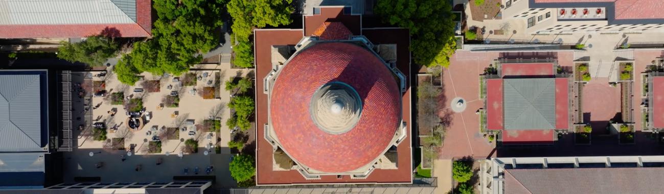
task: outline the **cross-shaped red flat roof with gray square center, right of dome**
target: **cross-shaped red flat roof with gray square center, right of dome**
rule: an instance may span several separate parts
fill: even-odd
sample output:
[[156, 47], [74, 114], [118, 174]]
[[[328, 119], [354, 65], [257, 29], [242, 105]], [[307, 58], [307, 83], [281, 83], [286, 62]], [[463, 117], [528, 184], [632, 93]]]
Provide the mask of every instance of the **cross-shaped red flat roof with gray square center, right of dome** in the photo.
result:
[[556, 129], [569, 128], [569, 78], [554, 64], [500, 64], [487, 81], [488, 130], [503, 130], [503, 144], [552, 144]]

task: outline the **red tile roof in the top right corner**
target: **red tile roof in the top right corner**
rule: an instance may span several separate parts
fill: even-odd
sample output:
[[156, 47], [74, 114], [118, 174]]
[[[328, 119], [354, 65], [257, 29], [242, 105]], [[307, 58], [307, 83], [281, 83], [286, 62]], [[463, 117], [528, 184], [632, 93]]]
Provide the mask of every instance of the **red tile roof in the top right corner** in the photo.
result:
[[535, 0], [535, 3], [614, 3], [614, 19], [664, 19], [661, 0]]

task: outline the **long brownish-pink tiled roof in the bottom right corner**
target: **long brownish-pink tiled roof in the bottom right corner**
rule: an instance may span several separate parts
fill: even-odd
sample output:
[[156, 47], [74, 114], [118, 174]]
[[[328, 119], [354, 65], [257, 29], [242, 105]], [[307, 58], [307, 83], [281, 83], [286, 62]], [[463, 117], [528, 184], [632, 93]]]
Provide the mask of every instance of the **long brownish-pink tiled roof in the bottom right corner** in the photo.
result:
[[664, 168], [505, 170], [505, 193], [659, 193]]

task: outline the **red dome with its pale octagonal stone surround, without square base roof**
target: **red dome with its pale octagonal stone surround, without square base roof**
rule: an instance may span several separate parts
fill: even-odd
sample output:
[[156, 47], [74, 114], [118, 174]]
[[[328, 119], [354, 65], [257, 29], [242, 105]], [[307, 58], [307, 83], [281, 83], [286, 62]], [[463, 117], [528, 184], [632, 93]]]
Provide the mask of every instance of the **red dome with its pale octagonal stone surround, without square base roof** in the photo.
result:
[[[266, 138], [307, 178], [361, 178], [381, 165], [396, 166], [386, 152], [405, 138], [404, 75], [371, 50], [367, 38], [351, 36], [343, 24], [321, 28], [324, 33], [303, 38], [290, 58], [265, 77], [270, 102]], [[278, 50], [272, 54], [282, 55]]]

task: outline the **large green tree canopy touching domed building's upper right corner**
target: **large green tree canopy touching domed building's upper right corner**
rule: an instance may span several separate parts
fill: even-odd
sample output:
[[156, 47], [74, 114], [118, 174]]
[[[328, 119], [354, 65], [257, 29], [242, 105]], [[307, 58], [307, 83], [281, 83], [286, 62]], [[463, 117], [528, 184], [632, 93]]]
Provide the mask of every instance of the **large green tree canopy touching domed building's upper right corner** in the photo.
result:
[[456, 50], [454, 17], [448, 1], [378, 0], [374, 11], [390, 24], [410, 29], [416, 64], [450, 66]]

